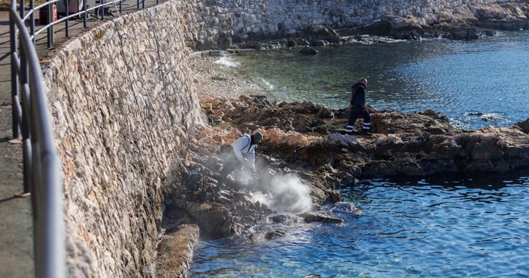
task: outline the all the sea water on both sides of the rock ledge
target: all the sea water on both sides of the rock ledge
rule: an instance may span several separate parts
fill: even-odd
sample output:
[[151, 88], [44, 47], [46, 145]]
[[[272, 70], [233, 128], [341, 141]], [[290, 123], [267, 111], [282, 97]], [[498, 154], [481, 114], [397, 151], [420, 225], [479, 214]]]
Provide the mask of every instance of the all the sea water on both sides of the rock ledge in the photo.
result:
[[[464, 129], [529, 118], [529, 33], [478, 41], [400, 41], [223, 57], [288, 101], [345, 107], [369, 79], [366, 102], [434, 109]], [[286, 234], [200, 241], [190, 277], [529, 277], [529, 171], [362, 180], [330, 223], [258, 223]], [[345, 206], [346, 207], [346, 206]]]

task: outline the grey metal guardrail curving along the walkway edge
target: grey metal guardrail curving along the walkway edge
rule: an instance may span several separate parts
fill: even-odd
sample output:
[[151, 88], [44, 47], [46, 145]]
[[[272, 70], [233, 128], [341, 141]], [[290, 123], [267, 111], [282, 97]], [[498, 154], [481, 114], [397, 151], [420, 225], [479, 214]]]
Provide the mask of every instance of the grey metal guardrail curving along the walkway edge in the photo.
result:
[[[53, 21], [50, 12], [53, 3], [66, 3], [66, 17]], [[55, 145], [55, 136], [48, 112], [46, 86], [41, 71], [35, 38], [39, 33], [48, 32], [48, 48], [53, 43], [53, 26], [66, 23], [65, 33], [69, 37], [69, 19], [84, 17], [84, 28], [88, 26], [89, 12], [100, 9], [104, 19], [104, 8], [111, 4], [119, 6], [122, 12], [124, 0], [99, 0], [100, 5], [88, 8], [86, 0], [82, 12], [69, 14], [69, 0], [51, 0], [34, 8], [30, 0], [27, 15], [24, 15], [24, 0], [11, 1], [10, 56], [12, 88], [12, 131], [13, 138], [22, 136], [24, 156], [24, 194], [31, 194], [33, 205], [33, 230], [35, 240], [35, 277], [66, 277], [66, 243], [63, 217], [63, 192], [60, 160]], [[136, 1], [136, 10], [145, 8], [145, 0]], [[158, 4], [156, 0], [156, 4]], [[48, 8], [48, 24], [35, 31], [35, 11]], [[26, 20], [30, 20], [26, 26]], [[29, 31], [28, 31], [29, 29]], [[17, 44], [19, 41], [19, 45]], [[21, 134], [20, 134], [21, 133]]]

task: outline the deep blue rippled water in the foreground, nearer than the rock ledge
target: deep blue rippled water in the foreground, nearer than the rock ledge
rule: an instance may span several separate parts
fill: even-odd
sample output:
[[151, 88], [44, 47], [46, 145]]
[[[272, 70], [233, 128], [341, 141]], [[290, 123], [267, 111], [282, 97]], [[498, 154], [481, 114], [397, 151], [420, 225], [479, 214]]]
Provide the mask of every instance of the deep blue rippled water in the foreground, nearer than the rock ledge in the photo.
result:
[[[198, 244], [191, 277], [529, 277], [529, 172], [366, 180], [343, 224]], [[272, 229], [281, 228], [275, 226]]]

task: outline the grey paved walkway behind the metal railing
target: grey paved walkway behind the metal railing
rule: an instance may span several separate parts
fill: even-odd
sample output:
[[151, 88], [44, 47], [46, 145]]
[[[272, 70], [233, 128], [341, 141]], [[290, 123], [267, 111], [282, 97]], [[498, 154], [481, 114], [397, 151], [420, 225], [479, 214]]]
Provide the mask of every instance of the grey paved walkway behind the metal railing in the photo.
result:
[[[95, 0], [87, 3], [93, 7]], [[131, 0], [129, 0], [131, 1]], [[136, 1], [123, 2], [123, 13], [136, 11]], [[145, 7], [156, 1], [146, 1]], [[140, 4], [141, 7], [141, 4]], [[113, 15], [117, 7], [111, 6]], [[105, 17], [111, 19], [112, 17]], [[89, 27], [99, 24], [100, 19], [90, 17]], [[72, 20], [68, 24], [70, 36], [80, 33], [83, 21]], [[39, 28], [39, 25], [36, 25]], [[66, 41], [65, 24], [55, 27], [54, 46]], [[39, 56], [48, 53], [46, 33], [37, 37]], [[9, 14], [0, 11], [0, 278], [35, 277], [33, 252], [33, 212], [31, 198], [17, 198], [24, 189], [22, 174], [22, 149], [19, 139], [12, 138], [11, 66], [10, 66]]]

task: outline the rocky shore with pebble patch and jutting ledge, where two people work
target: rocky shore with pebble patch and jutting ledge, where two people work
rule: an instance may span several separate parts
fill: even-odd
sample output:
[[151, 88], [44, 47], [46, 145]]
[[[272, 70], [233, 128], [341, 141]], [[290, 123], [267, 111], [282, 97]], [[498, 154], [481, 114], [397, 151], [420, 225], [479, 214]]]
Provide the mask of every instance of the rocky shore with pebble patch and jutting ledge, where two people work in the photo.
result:
[[[529, 165], [529, 119], [513, 127], [467, 131], [452, 127], [435, 111], [371, 109], [373, 135], [347, 136], [346, 109], [279, 102], [233, 68], [214, 64], [216, 59], [191, 60], [207, 124], [196, 127], [187, 160], [175, 167], [175, 180], [185, 187], [175, 186], [165, 202], [165, 239], [160, 243], [165, 247], [158, 248], [163, 258], [158, 273], [177, 264], [177, 272], [186, 275], [198, 230], [203, 239], [261, 241], [285, 233], [270, 223], [340, 223], [342, 219], [320, 209], [341, 202], [339, 187], [353, 186], [358, 178], [507, 172]], [[259, 174], [219, 183], [221, 146], [254, 131], [265, 137], [257, 148]], [[186, 242], [178, 248], [187, 257], [171, 257], [175, 237]], [[174, 275], [174, 269], [167, 273]]]

